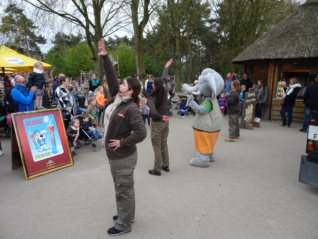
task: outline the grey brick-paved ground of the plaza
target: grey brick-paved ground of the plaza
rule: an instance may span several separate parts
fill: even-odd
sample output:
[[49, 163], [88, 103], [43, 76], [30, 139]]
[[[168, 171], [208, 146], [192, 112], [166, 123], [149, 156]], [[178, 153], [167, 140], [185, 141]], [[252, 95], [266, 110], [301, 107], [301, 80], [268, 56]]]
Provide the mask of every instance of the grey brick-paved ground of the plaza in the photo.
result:
[[[136, 221], [118, 238], [318, 238], [318, 189], [298, 182], [306, 134], [261, 121], [225, 142], [226, 127], [208, 168], [196, 156], [191, 122], [176, 110], [170, 120], [170, 172], [153, 167], [150, 127], [138, 144], [135, 169]], [[74, 166], [26, 181], [11, 170], [10, 140], [0, 138], [0, 238], [111, 238], [116, 214], [105, 149], [82, 144]], [[98, 144], [101, 145], [100, 142]]]

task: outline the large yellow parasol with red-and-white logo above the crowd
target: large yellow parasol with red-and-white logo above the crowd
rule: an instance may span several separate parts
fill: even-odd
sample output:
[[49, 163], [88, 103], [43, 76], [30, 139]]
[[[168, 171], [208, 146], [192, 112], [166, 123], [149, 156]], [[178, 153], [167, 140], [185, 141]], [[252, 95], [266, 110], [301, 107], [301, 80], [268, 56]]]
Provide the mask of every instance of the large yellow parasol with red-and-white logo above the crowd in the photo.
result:
[[[32, 72], [35, 62], [37, 60], [22, 55], [8, 47], [0, 47], [0, 68], [2, 68], [2, 72], [5, 71], [5, 67], [16, 69], [16, 71]], [[44, 70], [51, 67], [50, 64], [41, 63]]]

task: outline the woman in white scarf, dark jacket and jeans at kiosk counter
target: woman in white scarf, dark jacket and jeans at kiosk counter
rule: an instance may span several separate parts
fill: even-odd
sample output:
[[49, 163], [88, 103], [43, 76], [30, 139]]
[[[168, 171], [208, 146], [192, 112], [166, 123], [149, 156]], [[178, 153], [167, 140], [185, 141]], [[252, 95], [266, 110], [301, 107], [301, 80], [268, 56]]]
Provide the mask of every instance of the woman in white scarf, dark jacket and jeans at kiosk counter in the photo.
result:
[[[281, 115], [281, 118], [283, 119], [283, 124], [281, 126], [283, 128], [289, 128], [290, 124], [292, 123], [293, 108], [296, 102], [297, 94], [300, 91], [300, 89], [301, 89], [301, 85], [296, 78], [290, 79], [290, 85], [288, 88], [286, 85], [284, 87], [286, 96], [284, 98], [284, 104], [282, 105], [280, 110], [280, 115]], [[285, 115], [286, 111], [288, 115], [288, 122], [286, 121], [286, 115]]]

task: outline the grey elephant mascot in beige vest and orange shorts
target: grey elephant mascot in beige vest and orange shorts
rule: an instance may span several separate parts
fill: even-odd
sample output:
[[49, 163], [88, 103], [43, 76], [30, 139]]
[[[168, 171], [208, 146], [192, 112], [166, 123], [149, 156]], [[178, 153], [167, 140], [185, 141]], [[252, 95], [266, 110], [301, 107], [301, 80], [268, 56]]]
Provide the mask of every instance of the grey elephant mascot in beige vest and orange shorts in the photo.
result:
[[[225, 125], [216, 98], [223, 86], [222, 77], [209, 68], [202, 71], [197, 85], [190, 87], [183, 84], [183, 89], [190, 94], [188, 105], [196, 112], [192, 127], [195, 147], [199, 154], [190, 160], [190, 164], [193, 166], [209, 167], [210, 162], [215, 160], [214, 144], [221, 128]], [[193, 95], [197, 95], [197, 99], [201, 102], [200, 105], [194, 101]]]

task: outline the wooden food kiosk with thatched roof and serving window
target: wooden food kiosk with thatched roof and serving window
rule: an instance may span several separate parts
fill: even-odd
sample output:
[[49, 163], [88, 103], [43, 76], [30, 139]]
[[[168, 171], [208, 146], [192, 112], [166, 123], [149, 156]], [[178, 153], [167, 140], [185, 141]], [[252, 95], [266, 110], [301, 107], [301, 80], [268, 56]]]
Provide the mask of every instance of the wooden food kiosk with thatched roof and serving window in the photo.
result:
[[[307, 0], [286, 19], [264, 33], [232, 60], [243, 64], [252, 83], [263, 79], [268, 88], [265, 120], [280, 121], [281, 82], [296, 77], [302, 89], [293, 110], [293, 122], [303, 122], [301, 92], [318, 75], [318, 0]], [[289, 81], [286, 82], [289, 84]], [[318, 93], [318, 92], [317, 92]]]

